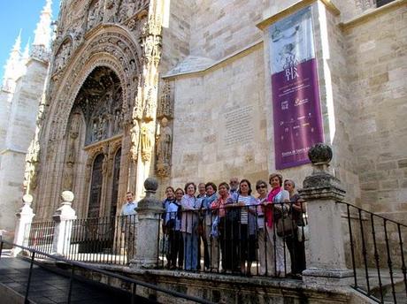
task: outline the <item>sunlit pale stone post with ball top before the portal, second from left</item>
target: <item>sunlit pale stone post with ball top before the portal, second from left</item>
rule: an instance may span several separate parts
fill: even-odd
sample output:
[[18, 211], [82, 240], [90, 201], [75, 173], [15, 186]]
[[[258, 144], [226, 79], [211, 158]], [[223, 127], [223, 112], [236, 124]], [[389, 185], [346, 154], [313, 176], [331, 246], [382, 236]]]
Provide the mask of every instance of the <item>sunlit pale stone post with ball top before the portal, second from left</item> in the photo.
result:
[[69, 252], [75, 210], [71, 207], [74, 195], [71, 191], [61, 194], [62, 204], [52, 219], [55, 222], [54, 239], [52, 240], [52, 255], [65, 255]]

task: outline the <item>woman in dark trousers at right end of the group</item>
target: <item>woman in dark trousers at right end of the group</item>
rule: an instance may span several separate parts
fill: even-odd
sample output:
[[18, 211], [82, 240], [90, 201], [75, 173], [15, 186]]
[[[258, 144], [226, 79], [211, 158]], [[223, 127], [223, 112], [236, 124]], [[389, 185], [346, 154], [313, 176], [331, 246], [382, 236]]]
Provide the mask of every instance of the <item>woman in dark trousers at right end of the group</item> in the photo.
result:
[[[301, 273], [306, 268], [304, 238], [301, 235], [301, 232], [303, 232], [302, 227], [304, 225], [303, 213], [306, 212], [306, 208], [300, 195], [296, 193], [296, 184], [293, 180], [284, 180], [284, 189], [289, 193], [289, 213], [297, 227], [296, 232], [292, 233], [284, 240], [286, 241], [291, 259], [291, 274], [293, 277], [301, 277]], [[299, 234], [301, 235], [301, 238], [299, 237]]]

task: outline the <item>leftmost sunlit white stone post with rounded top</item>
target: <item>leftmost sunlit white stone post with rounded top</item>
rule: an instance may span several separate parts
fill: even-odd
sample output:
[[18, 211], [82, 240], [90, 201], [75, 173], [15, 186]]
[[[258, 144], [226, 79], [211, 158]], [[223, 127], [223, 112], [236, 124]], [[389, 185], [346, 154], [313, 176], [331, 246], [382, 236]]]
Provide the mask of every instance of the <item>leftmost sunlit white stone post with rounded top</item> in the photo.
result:
[[[13, 243], [20, 246], [27, 246], [27, 238], [30, 233], [33, 217], [35, 216], [33, 209], [31, 208], [33, 196], [30, 194], [24, 195], [23, 202], [24, 206], [21, 209], [19, 209], [19, 211], [16, 213], [17, 223]], [[21, 250], [22, 249], [20, 247], [13, 247], [12, 255], [13, 256], [19, 255]]]

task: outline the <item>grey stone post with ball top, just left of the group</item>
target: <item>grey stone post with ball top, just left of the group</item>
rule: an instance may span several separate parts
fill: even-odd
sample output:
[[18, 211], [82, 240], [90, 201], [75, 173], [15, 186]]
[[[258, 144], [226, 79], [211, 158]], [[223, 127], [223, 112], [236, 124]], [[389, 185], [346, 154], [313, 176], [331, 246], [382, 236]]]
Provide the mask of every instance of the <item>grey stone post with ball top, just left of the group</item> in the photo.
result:
[[148, 178], [144, 181], [146, 196], [137, 205], [137, 238], [135, 239], [135, 258], [130, 262], [134, 268], [155, 268], [158, 257], [158, 231], [160, 213], [164, 211], [155, 197], [157, 179]]

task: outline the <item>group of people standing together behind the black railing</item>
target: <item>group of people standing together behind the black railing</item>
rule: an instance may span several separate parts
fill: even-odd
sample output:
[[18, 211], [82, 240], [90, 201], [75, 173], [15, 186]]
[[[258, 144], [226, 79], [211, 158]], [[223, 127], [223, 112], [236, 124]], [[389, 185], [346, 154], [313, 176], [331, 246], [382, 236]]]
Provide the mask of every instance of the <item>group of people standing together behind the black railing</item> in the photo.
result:
[[[198, 270], [200, 248], [204, 244], [204, 269], [283, 277], [287, 274], [288, 248], [292, 276], [305, 269], [304, 239], [298, 231], [305, 204], [296, 194], [295, 183], [280, 174], [258, 180], [257, 195], [252, 195], [248, 179], [239, 182], [237, 191], [226, 182], [189, 182], [184, 189], [168, 186], [163, 207], [163, 231], [168, 239], [167, 267]], [[287, 247], [286, 247], [287, 246]], [[257, 264], [257, 265], [258, 265]]]

